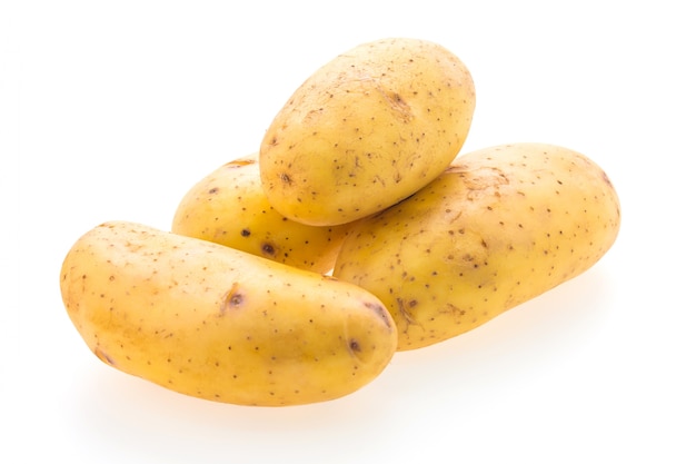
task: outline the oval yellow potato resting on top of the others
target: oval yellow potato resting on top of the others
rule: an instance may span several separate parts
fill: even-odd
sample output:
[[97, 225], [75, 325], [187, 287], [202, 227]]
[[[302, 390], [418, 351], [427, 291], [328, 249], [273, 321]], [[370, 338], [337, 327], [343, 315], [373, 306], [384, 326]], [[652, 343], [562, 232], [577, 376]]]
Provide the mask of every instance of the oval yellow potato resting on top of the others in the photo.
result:
[[314, 226], [378, 213], [435, 179], [457, 156], [476, 102], [466, 66], [444, 47], [367, 42], [310, 76], [259, 149], [264, 190]]

